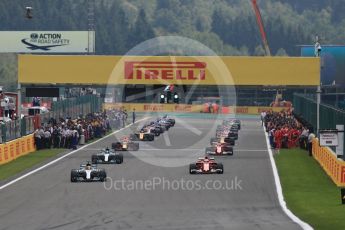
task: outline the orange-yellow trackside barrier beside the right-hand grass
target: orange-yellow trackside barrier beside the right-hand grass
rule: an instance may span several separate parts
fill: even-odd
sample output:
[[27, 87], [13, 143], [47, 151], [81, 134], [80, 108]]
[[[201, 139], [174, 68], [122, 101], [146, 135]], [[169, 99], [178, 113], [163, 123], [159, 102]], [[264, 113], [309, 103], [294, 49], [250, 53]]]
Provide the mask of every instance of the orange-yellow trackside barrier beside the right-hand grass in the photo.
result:
[[319, 140], [313, 140], [313, 157], [338, 187], [345, 187], [345, 161], [327, 147], [320, 147]]

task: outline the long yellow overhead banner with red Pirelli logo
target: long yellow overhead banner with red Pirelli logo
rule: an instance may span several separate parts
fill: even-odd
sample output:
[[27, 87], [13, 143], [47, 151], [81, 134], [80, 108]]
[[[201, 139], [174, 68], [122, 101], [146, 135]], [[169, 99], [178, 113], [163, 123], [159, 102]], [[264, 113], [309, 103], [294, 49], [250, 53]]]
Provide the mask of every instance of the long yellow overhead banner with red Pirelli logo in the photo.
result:
[[22, 84], [316, 86], [320, 59], [19, 55]]

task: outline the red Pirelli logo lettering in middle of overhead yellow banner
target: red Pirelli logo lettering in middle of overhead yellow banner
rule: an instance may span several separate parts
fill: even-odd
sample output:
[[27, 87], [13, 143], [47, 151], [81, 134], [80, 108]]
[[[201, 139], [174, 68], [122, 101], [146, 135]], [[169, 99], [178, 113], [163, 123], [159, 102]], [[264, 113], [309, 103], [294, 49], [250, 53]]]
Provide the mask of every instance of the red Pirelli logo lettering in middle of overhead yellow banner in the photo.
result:
[[125, 79], [190, 80], [206, 79], [206, 62], [125, 62]]

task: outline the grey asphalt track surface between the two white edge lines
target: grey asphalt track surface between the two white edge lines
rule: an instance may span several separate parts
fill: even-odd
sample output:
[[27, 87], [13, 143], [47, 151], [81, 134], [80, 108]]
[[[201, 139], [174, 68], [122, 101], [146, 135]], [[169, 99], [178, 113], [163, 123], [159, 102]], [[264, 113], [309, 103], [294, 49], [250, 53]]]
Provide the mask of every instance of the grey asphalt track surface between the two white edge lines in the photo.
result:
[[[189, 175], [184, 164], [196, 160], [197, 152], [202, 155], [215, 121], [180, 117], [168, 135], [154, 143], [141, 142], [141, 150], [134, 155], [124, 152], [122, 165], [99, 166], [110, 177], [105, 184], [72, 184], [70, 170], [110, 145], [113, 136], [4, 188], [0, 229], [300, 229], [279, 206], [260, 122], [241, 120], [234, 156], [216, 159], [224, 164], [223, 175]], [[130, 132], [128, 128], [116, 135]], [[163, 178], [164, 186], [158, 184]], [[143, 182], [153, 180], [154, 189]], [[188, 186], [182, 188], [176, 182], [181, 180], [188, 181]], [[222, 187], [208, 184], [205, 189], [207, 181], [218, 181]]]

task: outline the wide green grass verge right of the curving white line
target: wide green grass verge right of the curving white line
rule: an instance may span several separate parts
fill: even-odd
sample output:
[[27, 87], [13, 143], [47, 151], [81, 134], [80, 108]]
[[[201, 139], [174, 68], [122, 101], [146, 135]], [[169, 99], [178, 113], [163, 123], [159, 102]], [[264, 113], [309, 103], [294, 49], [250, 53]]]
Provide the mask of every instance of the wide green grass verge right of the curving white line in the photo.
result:
[[288, 208], [313, 228], [345, 229], [345, 205], [340, 189], [316, 160], [300, 149], [275, 156]]

